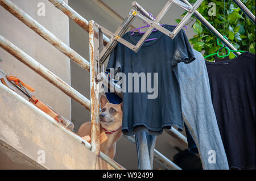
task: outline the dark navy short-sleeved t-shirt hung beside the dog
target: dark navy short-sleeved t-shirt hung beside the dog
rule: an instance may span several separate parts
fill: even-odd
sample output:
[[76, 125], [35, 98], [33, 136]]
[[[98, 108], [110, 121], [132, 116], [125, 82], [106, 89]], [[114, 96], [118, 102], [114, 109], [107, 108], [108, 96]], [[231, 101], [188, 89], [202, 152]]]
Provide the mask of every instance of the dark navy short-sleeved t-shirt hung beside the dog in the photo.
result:
[[[164, 25], [164, 28], [173, 31], [175, 27]], [[130, 32], [127, 32], [123, 39], [135, 45], [142, 35], [135, 32], [131, 36]], [[115, 71], [126, 75], [122, 131], [127, 135], [137, 133], [136, 128], [145, 131], [141, 127], [158, 134], [162, 133], [163, 128], [170, 129], [171, 126], [183, 129], [179, 85], [172, 66], [181, 61], [189, 63], [195, 60], [195, 57], [183, 30], [174, 40], [160, 31], [152, 32], [148, 39], [154, 37], [157, 39], [146, 41], [137, 53], [118, 43], [110, 54], [106, 68], [114, 68]], [[129, 73], [142, 75], [142, 78], [139, 78], [139, 92], [135, 92], [134, 78], [133, 85], [129, 87]], [[146, 80], [146, 85], [142, 84], [142, 79]], [[148, 89], [148, 86], [154, 88], [154, 91]], [[130, 88], [133, 88], [132, 92], [128, 92]]]

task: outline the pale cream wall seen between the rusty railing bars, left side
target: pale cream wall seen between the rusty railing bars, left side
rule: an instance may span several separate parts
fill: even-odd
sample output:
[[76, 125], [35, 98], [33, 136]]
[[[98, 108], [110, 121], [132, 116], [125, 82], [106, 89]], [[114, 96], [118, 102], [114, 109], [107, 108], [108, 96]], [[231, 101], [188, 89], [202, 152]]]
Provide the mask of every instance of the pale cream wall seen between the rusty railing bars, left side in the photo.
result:
[[[68, 17], [57, 10], [52, 3], [47, 0], [12, 0], [12, 2], [52, 32], [53, 35], [69, 45]], [[39, 7], [37, 6], [39, 2], [46, 5], [45, 16], [38, 15]], [[68, 0], [65, 0], [65, 2], [68, 3]], [[0, 35], [70, 85], [69, 58], [20, 22], [20, 20], [16, 19], [9, 11], [3, 9], [2, 6], [0, 6]], [[71, 98], [2, 48], [0, 48], [0, 59], [2, 60], [0, 68], [3, 71], [20, 78], [23, 82], [33, 87], [35, 89], [33, 95], [67, 119], [71, 119]]]

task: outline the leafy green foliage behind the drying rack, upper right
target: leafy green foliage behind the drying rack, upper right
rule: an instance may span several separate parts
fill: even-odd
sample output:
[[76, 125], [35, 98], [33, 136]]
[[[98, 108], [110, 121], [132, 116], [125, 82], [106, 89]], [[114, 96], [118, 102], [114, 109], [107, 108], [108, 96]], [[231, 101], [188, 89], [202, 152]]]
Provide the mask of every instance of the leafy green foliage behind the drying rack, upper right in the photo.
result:
[[[189, 1], [190, 3], [196, 0]], [[208, 11], [212, 6], [208, 6], [210, 2], [216, 4], [216, 16], [208, 15]], [[255, 15], [255, 1], [242, 0], [243, 4]], [[214, 28], [222, 35], [228, 37], [228, 40], [238, 50], [245, 50], [255, 53], [255, 24], [240, 10], [239, 7], [232, 1], [226, 0], [225, 11], [224, 1], [205, 0], [197, 9], [204, 18], [212, 24]], [[186, 14], [185, 12], [183, 16]], [[192, 16], [195, 23], [192, 25], [193, 31], [196, 33], [189, 42], [193, 48], [204, 56], [215, 53], [220, 46], [217, 45], [215, 37], [199, 20]], [[180, 19], [176, 19], [179, 23]], [[225, 52], [224, 52], [225, 54]], [[234, 54], [230, 53], [230, 58], [234, 58]], [[208, 61], [213, 61], [214, 57], [208, 57]]]

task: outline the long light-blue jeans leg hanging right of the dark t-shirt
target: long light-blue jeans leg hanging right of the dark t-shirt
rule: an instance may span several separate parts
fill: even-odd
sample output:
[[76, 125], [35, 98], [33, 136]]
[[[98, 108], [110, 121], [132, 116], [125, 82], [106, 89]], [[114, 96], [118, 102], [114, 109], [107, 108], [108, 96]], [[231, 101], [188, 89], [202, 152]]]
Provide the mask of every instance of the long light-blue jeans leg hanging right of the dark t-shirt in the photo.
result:
[[180, 85], [183, 120], [199, 150], [203, 168], [229, 169], [213, 110], [205, 60], [201, 53], [193, 51], [195, 61], [181, 62], [174, 69]]

